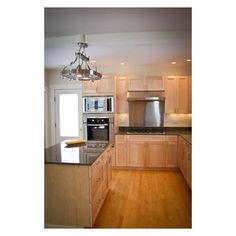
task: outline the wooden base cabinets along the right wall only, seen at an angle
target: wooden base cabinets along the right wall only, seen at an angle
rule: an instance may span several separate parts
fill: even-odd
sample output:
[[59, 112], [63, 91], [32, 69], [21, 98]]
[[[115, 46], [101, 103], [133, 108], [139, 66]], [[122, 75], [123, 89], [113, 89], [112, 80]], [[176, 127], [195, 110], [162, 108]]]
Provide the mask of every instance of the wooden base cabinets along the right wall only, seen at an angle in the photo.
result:
[[192, 188], [192, 145], [179, 137], [178, 166], [190, 188]]

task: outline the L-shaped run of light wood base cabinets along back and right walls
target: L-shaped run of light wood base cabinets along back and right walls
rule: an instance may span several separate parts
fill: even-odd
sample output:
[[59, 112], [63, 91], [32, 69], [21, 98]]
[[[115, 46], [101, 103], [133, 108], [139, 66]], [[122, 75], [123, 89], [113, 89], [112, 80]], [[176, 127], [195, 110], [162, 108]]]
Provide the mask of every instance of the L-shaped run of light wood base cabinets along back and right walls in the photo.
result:
[[191, 188], [191, 153], [177, 135], [116, 135], [115, 168], [179, 168]]

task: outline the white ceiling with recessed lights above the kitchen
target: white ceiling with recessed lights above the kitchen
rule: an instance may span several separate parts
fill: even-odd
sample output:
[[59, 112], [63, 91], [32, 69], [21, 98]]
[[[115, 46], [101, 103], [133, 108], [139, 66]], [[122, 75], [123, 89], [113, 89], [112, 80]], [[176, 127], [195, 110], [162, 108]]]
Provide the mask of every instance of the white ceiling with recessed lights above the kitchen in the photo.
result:
[[86, 52], [98, 70], [162, 66], [191, 58], [191, 8], [46, 8], [45, 67], [74, 59], [86, 35]]

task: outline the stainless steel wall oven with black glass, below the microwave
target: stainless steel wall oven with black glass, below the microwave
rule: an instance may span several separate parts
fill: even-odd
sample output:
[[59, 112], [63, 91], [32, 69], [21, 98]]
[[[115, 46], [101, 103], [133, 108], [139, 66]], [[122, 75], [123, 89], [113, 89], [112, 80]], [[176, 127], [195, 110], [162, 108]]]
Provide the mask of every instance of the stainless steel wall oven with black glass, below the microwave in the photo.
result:
[[83, 117], [83, 130], [90, 146], [114, 144], [114, 117]]

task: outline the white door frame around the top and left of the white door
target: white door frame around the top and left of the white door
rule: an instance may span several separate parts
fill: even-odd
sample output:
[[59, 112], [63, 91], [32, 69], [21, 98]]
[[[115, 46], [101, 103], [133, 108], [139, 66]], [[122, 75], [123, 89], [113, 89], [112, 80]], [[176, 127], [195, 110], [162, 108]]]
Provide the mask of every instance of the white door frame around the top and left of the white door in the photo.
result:
[[81, 96], [82, 96], [82, 84], [57, 84], [57, 85], [50, 85], [49, 86], [49, 144], [48, 146], [52, 146], [56, 144], [56, 110], [55, 110], [55, 105], [54, 105], [54, 96], [56, 90], [80, 90], [81, 91]]

